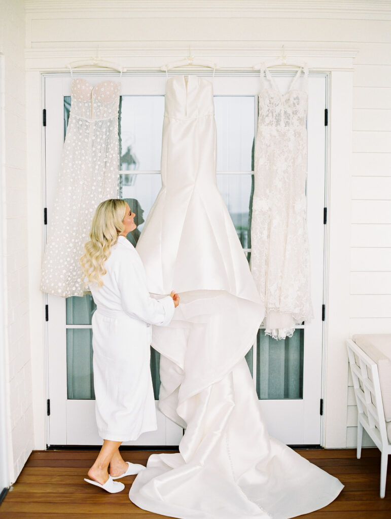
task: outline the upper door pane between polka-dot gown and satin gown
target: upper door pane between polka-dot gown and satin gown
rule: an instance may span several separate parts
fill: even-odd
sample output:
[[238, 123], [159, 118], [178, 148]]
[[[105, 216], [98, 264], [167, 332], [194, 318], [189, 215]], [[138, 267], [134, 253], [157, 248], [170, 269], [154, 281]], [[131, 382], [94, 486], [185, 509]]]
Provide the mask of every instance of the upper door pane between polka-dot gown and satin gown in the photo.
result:
[[120, 169], [159, 171], [164, 95], [122, 95]]

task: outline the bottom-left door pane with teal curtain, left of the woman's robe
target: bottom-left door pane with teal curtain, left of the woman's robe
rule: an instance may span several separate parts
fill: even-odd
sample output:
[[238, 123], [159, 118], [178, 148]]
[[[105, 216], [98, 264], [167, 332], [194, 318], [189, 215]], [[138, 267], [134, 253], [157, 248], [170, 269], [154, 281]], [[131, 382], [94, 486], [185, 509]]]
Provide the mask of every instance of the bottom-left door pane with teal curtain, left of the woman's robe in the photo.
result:
[[92, 330], [66, 330], [68, 400], [93, 400]]

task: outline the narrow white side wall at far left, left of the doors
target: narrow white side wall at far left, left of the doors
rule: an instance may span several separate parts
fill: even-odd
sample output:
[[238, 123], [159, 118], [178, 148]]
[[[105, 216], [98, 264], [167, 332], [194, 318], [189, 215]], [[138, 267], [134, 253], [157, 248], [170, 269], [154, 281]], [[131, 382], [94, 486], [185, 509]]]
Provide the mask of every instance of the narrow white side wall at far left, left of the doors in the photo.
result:
[[28, 282], [24, 2], [0, 0], [4, 339], [9, 481], [34, 445]]

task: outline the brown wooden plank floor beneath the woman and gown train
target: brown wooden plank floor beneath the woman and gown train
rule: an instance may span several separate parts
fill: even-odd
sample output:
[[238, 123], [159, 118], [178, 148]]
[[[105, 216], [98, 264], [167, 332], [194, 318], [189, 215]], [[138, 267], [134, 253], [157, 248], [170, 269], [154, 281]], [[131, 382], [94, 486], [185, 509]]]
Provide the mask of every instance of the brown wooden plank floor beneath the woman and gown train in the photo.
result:
[[[380, 452], [363, 449], [298, 450], [318, 467], [338, 477], [345, 488], [329, 506], [300, 517], [311, 519], [390, 519], [391, 460], [386, 496], [380, 499]], [[157, 519], [128, 497], [135, 476], [126, 477], [125, 490], [107, 494], [84, 482], [96, 451], [37, 451], [31, 454], [15, 485], [0, 505], [1, 519]], [[151, 451], [125, 451], [127, 461], [146, 464]], [[240, 518], [238, 518], [240, 519]]]

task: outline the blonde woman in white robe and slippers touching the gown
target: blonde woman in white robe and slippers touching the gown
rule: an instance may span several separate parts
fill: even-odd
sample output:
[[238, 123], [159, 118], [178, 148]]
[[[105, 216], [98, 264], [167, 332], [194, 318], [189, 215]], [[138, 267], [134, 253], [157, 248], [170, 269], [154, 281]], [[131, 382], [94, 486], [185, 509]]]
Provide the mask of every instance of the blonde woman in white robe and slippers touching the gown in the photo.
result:
[[179, 305], [174, 292], [159, 300], [150, 297], [140, 256], [126, 239], [136, 228], [134, 216], [125, 200], [100, 203], [80, 258], [97, 305], [92, 317], [93, 374], [98, 432], [104, 440], [88, 471], [91, 479], [85, 481], [110, 493], [125, 488], [114, 479], [145, 468], [126, 463], [118, 447], [157, 428], [151, 324], [168, 325]]

